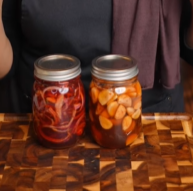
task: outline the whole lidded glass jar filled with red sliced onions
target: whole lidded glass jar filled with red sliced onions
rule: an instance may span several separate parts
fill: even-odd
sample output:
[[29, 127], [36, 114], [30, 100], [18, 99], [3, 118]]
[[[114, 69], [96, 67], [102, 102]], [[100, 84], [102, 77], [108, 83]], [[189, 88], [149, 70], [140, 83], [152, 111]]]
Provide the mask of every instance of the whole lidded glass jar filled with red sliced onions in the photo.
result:
[[84, 132], [85, 93], [80, 62], [70, 55], [49, 55], [34, 64], [33, 127], [49, 148], [74, 145]]

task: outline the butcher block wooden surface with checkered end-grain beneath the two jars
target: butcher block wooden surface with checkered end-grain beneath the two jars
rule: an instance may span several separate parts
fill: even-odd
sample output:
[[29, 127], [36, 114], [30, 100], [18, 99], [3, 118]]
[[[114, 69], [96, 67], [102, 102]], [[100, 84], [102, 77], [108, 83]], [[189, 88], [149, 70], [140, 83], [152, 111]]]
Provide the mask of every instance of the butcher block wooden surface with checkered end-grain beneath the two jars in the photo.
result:
[[34, 139], [31, 114], [0, 114], [0, 191], [193, 191], [192, 117], [150, 113], [142, 121], [124, 149], [101, 148], [86, 134], [54, 150]]

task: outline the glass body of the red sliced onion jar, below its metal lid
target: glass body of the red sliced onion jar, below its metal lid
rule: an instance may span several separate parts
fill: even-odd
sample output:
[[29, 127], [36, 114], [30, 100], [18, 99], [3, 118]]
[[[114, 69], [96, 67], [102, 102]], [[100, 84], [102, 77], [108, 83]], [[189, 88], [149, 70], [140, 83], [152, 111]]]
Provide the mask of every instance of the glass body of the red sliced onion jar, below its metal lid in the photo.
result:
[[73, 146], [85, 125], [85, 93], [80, 76], [62, 82], [35, 77], [33, 127], [42, 145], [56, 149]]

